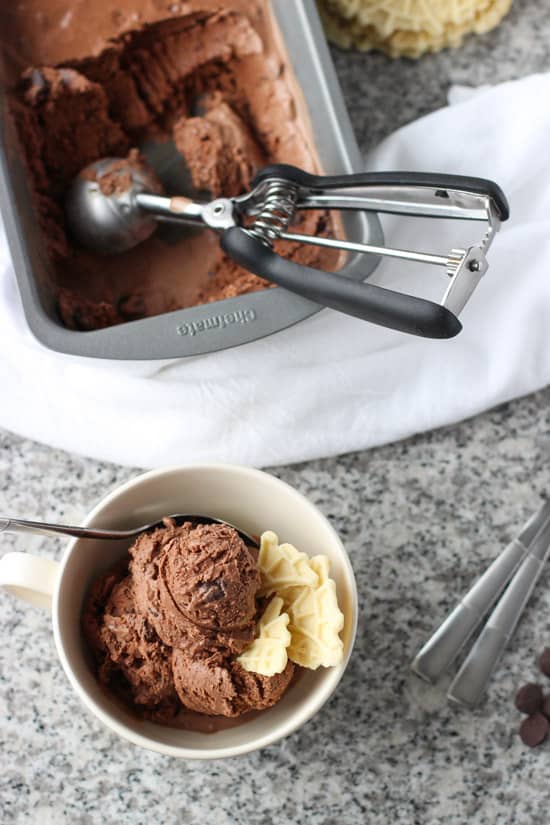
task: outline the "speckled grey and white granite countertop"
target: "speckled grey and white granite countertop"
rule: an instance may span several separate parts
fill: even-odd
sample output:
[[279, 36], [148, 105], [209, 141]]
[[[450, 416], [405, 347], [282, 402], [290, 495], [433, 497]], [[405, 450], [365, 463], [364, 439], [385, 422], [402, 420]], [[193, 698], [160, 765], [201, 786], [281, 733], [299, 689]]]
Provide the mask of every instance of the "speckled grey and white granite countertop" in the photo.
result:
[[[543, 8], [544, 6], [544, 8]], [[366, 149], [477, 85], [550, 67], [550, 7], [515, 0], [501, 27], [419, 63], [334, 51]], [[361, 616], [336, 696], [301, 731], [213, 763], [117, 740], [73, 695], [47, 617], [0, 594], [0, 820], [36, 825], [545, 825], [550, 743], [525, 748], [512, 697], [550, 644], [550, 571], [475, 713], [408, 664], [550, 489], [550, 389], [398, 444], [275, 474], [308, 495], [349, 550]], [[135, 471], [0, 433], [0, 512], [78, 521]], [[61, 545], [2, 537], [59, 557]], [[549, 684], [550, 687], [550, 684]]]

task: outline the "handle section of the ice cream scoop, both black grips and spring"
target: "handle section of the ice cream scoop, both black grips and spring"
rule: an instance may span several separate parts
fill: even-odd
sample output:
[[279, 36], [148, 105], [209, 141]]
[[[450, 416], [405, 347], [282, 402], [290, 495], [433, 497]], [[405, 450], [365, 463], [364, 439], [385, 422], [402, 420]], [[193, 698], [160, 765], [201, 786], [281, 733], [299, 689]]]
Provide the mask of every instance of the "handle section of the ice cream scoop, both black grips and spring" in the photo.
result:
[[[222, 248], [242, 267], [316, 303], [425, 338], [452, 338], [460, 332], [462, 326], [457, 316], [487, 271], [487, 250], [500, 221], [509, 214], [501, 189], [482, 178], [417, 172], [328, 177], [310, 175], [286, 164], [262, 169], [252, 183], [252, 191], [237, 198], [236, 205], [243, 214], [257, 217], [246, 225], [252, 239], [247, 240], [245, 230], [240, 228], [230, 229], [222, 237]], [[288, 232], [293, 215], [301, 209], [351, 209], [473, 220], [486, 222], [488, 229], [478, 245], [467, 249], [453, 247], [443, 256]], [[444, 267], [450, 282], [439, 304], [359, 281], [346, 283], [346, 279], [334, 274], [312, 267], [300, 268], [292, 261], [278, 258], [271, 247], [279, 238]], [[445, 312], [441, 313], [440, 308]]]

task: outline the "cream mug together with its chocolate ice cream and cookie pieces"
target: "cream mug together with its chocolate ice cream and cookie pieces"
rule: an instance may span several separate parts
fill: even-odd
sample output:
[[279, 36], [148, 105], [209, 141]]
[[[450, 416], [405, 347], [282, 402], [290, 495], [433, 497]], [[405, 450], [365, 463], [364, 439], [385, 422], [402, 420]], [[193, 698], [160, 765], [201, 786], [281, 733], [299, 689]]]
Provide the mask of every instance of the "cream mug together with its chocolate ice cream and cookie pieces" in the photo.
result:
[[[235, 525], [176, 523], [197, 513]], [[331, 697], [357, 624], [338, 535], [298, 491], [260, 470], [153, 470], [109, 493], [61, 560], [8, 553], [0, 585], [51, 608], [61, 664], [111, 731], [187, 759], [236, 756], [289, 735]]]

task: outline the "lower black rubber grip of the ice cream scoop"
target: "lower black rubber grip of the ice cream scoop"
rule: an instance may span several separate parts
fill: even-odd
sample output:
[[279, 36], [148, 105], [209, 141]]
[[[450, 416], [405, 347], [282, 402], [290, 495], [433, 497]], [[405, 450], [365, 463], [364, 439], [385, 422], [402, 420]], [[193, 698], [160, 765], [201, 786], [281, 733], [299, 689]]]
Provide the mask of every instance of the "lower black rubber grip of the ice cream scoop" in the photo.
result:
[[440, 304], [296, 264], [275, 254], [239, 226], [223, 233], [221, 246], [250, 272], [317, 304], [372, 324], [424, 338], [453, 338], [462, 329], [456, 315]]

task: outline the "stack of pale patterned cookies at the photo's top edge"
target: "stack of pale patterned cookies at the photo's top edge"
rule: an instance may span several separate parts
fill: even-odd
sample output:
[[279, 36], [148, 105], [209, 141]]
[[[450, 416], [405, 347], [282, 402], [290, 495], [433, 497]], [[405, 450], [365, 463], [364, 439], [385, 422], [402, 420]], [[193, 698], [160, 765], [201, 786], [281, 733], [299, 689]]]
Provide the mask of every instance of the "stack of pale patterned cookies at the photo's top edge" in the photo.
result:
[[317, 0], [327, 36], [342, 48], [420, 57], [484, 34], [512, 0]]

